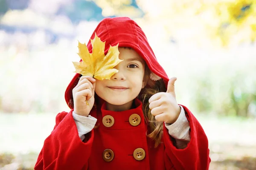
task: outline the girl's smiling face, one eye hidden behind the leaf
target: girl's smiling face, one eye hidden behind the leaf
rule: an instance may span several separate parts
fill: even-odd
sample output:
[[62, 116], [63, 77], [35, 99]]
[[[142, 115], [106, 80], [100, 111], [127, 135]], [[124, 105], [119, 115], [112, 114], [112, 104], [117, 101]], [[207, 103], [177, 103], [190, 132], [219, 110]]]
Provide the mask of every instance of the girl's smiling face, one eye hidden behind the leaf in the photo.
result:
[[119, 48], [119, 59], [123, 59], [116, 68], [118, 73], [110, 80], [96, 79], [96, 94], [111, 105], [131, 105], [144, 88], [145, 61], [131, 48]]

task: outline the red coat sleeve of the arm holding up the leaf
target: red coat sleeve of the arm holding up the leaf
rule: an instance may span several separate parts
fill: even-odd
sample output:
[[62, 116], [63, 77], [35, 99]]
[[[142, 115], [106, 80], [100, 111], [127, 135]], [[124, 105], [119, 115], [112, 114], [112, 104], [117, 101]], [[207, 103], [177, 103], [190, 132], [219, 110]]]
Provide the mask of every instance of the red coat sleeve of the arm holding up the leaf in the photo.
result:
[[58, 113], [56, 116], [56, 125], [44, 141], [35, 170], [87, 169], [93, 130], [81, 141], [72, 113], [73, 110], [70, 113]]

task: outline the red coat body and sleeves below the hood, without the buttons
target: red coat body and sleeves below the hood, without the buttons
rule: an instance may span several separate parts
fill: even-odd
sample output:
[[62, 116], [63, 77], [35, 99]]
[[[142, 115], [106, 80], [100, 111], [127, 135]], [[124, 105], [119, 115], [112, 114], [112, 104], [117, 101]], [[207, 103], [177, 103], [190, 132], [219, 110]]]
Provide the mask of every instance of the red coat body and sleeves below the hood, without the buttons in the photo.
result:
[[[71, 110], [61, 112], [56, 117], [56, 125], [45, 140], [38, 156], [35, 170], [207, 170], [209, 168], [208, 140], [201, 125], [192, 113], [183, 106], [189, 120], [191, 141], [185, 149], [176, 149], [172, 137], [164, 127], [162, 143], [154, 148], [154, 142], [146, 137], [142, 105], [139, 100], [135, 109], [122, 112], [92, 110], [98, 119], [97, 128], [87, 134], [83, 142], [79, 138]], [[141, 122], [137, 126], [129, 123], [129, 116], [138, 114]], [[114, 124], [105, 127], [102, 117], [111, 115]], [[137, 161], [134, 150], [145, 150], [145, 158]], [[103, 152], [113, 151], [113, 159], [105, 161]]]

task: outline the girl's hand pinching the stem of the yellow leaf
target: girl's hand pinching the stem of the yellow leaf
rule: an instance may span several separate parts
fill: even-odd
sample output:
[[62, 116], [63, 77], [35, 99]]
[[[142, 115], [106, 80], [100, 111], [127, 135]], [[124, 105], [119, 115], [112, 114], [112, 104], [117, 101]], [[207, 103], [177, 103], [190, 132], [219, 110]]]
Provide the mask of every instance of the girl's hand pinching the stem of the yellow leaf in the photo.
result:
[[[80, 77], [76, 87], [73, 88], [74, 113], [81, 116], [88, 116], [94, 104], [94, 91], [96, 80], [90, 76]], [[87, 105], [86, 103], [89, 103]]]

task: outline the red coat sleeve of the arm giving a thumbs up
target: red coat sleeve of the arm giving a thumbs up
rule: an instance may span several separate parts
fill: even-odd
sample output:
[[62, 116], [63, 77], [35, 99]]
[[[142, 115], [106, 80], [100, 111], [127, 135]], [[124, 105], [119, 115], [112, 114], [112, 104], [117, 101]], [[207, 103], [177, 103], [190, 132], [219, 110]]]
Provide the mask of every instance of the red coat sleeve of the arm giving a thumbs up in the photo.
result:
[[177, 149], [175, 140], [163, 128], [163, 142], [165, 145], [165, 164], [172, 170], [208, 170], [209, 158], [208, 139], [198, 120], [183, 106], [189, 121], [191, 140], [186, 148]]

